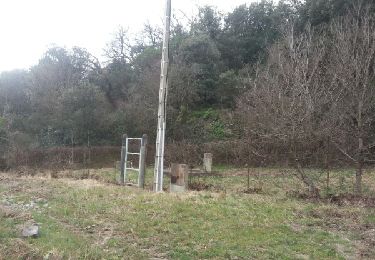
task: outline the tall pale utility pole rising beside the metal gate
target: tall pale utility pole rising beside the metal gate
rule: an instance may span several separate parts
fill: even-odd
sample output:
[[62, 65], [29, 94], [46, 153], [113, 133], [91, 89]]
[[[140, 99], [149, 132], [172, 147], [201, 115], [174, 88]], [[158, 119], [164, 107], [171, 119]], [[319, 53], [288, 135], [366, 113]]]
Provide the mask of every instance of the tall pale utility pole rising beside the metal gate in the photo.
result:
[[168, 94], [169, 38], [171, 27], [171, 0], [166, 0], [164, 21], [163, 53], [161, 60], [158, 130], [156, 136], [154, 191], [163, 191], [164, 143], [166, 127], [166, 108]]

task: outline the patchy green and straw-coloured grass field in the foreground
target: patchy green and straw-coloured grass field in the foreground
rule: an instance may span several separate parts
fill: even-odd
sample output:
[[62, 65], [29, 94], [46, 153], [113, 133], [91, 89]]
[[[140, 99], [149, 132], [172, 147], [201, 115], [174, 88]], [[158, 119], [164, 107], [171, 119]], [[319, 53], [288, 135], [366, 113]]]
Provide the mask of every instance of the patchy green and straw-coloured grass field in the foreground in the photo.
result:
[[[113, 169], [66, 171], [58, 178], [1, 174], [0, 259], [375, 257], [371, 200], [340, 197], [352, 190], [350, 171], [332, 172], [330, 189], [325, 175], [312, 171], [322, 178], [321, 200], [296, 196], [305, 188], [288, 169], [251, 169], [250, 190], [247, 171], [217, 171], [192, 180], [205, 190], [184, 194], [118, 186]], [[151, 175], [150, 169], [148, 188]], [[367, 172], [364, 181], [371, 198], [374, 174]], [[40, 236], [21, 238], [32, 222]]]

